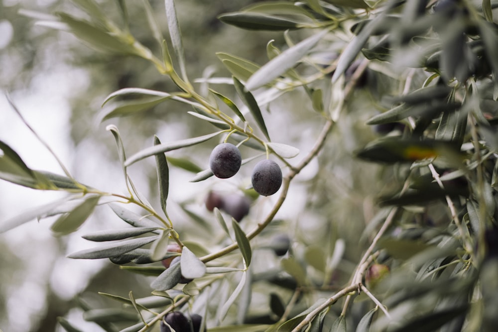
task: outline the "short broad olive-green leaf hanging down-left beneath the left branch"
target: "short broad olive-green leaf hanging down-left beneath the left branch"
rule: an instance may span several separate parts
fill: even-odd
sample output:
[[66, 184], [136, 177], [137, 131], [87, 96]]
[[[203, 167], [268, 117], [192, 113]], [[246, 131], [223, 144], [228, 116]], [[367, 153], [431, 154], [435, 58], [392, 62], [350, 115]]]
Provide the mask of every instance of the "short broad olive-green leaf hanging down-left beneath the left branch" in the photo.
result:
[[50, 229], [58, 235], [74, 232], [90, 217], [99, 203], [99, 199], [100, 196], [90, 196], [73, 211], [59, 217]]

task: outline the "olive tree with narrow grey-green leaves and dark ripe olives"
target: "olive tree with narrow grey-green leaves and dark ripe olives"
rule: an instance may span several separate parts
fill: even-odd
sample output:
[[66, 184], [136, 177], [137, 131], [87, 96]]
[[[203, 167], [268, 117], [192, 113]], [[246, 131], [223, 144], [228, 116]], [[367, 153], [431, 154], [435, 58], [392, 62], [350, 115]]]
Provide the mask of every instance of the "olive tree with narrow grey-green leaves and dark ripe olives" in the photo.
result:
[[[123, 87], [102, 101], [97, 116], [116, 142], [125, 194], [80, 183], [63, 161], [64, 174], [28, 168], [0, 142], [3, 180], [67, 193], [1, 231], [57, 216], [51, 229], [64, 236], [104, 206], [123, 220], [84, 234], [102, 243], [68, 259], [144, 274], [150, 296], [103, 290], [116, 305], [86, 307], [85, 319], [105, 331], [494, 331], [494, 1], [256, 2], [218, 19], [281, 33], [284, 43], [268, 40], [262, 65], [217, 53], [227, 76], [189, 72], [173, 0], [164, 1], [167, 38], [143, 1], [155, 45], [133, 36], [126, 2], [118, 18], [96, 1], [73, 3], [79, 16], [68, 9], [41, 24], [145, 60], [173, 84]], [[198, 134], [155, 135], [130, 153], [112, 121], [160, 116], [163, 105], [195, 118]], [[314, 143], [303, 144], [308, 136]], [[194, 147], [213, 151], [202, 165]], [[157, 208], [129, 172], [148, 159]], [[182, 190], [170, 186], [173, 168], [199, 186], [177, 204], [183, 215], [171, 213]], [[227, 181], [230, 190], [211, 190]], [[302, 211], [280, 218], [292, 199]]]

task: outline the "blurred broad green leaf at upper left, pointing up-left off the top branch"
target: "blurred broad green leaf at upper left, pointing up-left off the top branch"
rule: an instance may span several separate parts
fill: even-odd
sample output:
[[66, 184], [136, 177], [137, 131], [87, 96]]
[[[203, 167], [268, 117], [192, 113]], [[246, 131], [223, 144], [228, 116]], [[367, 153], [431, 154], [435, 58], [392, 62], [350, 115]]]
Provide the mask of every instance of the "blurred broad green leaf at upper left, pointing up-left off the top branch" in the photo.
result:
[[91, 22], [63, 12], [58, 13], [58, 16], [62, 22], [69, 26], [76, 37], [99, 51], [114, 54], [136, 54], [136, 50], [131, 43], [122, 41], [119, 37], [113, 36]]

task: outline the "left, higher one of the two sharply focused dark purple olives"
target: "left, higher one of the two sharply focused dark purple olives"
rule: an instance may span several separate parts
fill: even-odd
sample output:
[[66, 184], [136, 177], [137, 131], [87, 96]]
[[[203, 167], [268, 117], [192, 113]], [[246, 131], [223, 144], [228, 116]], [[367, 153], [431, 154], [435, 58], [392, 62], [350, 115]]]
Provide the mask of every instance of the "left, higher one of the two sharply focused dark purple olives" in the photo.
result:
[[220, 179], [233, 177], [239, 171], [241, 165], [241, 151], [231, 143], [218, 144], [209, 156], [211, 172]]

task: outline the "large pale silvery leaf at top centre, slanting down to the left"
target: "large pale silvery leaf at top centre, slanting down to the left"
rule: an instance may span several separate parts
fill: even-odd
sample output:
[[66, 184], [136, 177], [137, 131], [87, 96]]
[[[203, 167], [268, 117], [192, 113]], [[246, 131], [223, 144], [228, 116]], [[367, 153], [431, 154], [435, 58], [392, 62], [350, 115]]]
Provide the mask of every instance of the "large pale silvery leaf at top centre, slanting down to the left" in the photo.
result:
[[328, 32], [329, 30], [323, 30], [316, 33], [296, 45], [289, 47], [281, 54], [268, 61], [249, 78], [246, 89], [251, 91], [260, 88], [278, 78], [287, 70], [295, 67]]

